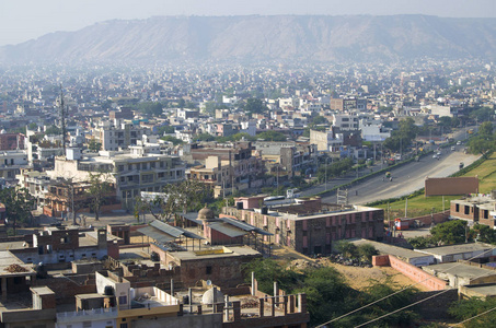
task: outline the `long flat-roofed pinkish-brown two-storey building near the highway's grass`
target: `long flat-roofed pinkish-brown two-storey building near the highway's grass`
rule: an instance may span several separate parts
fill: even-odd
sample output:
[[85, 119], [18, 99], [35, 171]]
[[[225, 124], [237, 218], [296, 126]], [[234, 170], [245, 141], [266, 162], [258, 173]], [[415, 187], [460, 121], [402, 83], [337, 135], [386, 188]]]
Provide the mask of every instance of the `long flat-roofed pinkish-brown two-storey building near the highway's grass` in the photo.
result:
[[331, 254], [332, 244], [341, 239], [384, 236], [382, 209], [326, 204], [318, 197], [270, 209], [240, 209], [250, 203], [250, 198], [244, 200], [237, 199], [242, 206], [224, 208], [224, 213], [274, 234], [275, 244], [305, 255]]

